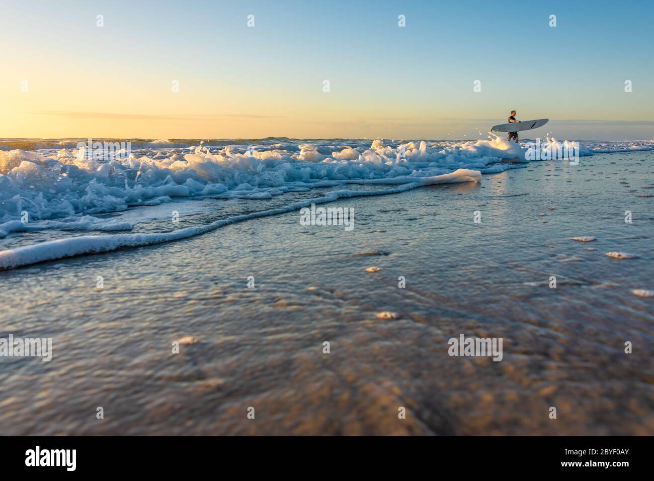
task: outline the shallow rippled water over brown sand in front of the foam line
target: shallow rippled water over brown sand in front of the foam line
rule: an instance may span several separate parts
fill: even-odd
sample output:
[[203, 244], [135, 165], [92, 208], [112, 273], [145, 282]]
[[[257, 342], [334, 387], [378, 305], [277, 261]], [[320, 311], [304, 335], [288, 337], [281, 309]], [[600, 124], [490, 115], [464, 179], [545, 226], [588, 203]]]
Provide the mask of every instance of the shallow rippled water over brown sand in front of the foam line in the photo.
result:
[[[654, 298], [632, 293], [654, 290], [652, 187], [653, 152], [532, 162], [330, 203], [353, 231], [292, 212], [1, 272], [0, 337], [53, 339], [48, 363], [0, 359], [1, 432], [652, 435]], [[316, 196], [185, 201], [203, 210], [181, 220]], [[139, 229], [177, 228], [160, 208]], [[502, 361], [450, 357], [460, 334], [501, 337]]]

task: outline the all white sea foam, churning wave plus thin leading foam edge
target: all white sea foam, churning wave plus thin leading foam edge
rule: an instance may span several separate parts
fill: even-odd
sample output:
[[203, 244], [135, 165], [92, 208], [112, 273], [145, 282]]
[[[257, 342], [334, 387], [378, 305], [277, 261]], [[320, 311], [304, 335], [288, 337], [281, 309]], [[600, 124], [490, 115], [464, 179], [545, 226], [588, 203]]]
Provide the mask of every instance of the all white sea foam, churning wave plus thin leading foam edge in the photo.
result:
[[[11, 145], [3, 142], [3, 148]], [[478, 141], [264, 139], [254, 145], [212, 141], [209, 147], [194, 142], [194, 148], [190, 147], [193, 142], [159, 139], [130, 141], [137, 150], [124, 159], [85, 159], [75, 150], [74, 139], [34, 142], [50, 143], [41, 150], [0, 150], [0, 238], [48, 229], [129, 230], [131, 220], [115, 222], [94, 216], [182, 199], [271, 199], [287, 192], [347, 184], [400, 186], [366, 193], [338, 191], [336, 198], [377, 195], [426, 183], [461, 182], [462, 178], [476, 181], [479, 173], [502, 172], [524, 167], [526, 163], [525, 149], [520, 144], [494, 134], [489, 140]], [[604, 142], [599, 146], [608, 145]], [[624, 145], [625, 149], [638, 150], [646, 146], [643, 142]], [[591, 147], [582, 146], [581, 155], [592, 155]], [[458, 169], [474, 174], [461, 176]], [[451, 173], [455, 174], [447, 175]], [[322, 199], [328, 200], [321, 202], [334, 200], [330, 196]], [[308, 199], [307, 205], [316, 200]], [[250, 215], [271, 215], [297, 206]], [[245, 218], [251, 217], [235, 216], [219, 222], [231, 224]], [[3, 252], [2, 263], [5, 267], [24, 265], [75, 253], [166, 242], [220, 225], [189, 227], [166, 234], [83, 236], [52, 245], [41, 242], [39, 246], [27, 246], [26, 251]]]

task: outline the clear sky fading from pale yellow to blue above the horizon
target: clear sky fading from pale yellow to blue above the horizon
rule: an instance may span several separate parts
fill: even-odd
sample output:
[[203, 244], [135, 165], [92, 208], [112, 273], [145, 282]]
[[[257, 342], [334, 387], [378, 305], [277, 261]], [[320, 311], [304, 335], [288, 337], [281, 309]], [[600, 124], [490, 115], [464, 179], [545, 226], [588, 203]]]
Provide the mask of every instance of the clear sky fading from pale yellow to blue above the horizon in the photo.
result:
[[477, 139], [515, 109], [551, 119], [543, 136], [654, 139], [651, 1], [0, 0], [0, 11], [0, 138]]

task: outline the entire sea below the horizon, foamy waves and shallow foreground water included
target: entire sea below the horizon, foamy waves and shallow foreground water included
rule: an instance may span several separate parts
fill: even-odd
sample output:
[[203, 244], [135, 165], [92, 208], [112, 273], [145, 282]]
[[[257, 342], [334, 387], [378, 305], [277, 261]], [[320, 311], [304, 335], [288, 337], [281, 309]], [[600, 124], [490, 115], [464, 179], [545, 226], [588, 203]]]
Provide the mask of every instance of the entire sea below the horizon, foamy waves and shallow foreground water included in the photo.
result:
[[0, 141], [3, 434], [654, 434], [654, 141], [79, 142]]

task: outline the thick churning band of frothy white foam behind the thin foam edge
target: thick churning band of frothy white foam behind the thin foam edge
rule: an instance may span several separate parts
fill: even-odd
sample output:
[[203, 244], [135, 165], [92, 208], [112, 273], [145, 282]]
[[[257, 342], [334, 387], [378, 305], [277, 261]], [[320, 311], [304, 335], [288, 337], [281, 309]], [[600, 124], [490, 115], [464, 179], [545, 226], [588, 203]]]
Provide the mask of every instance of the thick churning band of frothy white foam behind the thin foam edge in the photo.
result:
[[[74, 141], [62, 142], [65, 147]], [[355, 142], [268, 141], [191, 151], [156, 140], [125, 159], [84, 159], [75, 148], [0, 151], [0, 229], [7, 231], [2, 224], [20, 220], [24, 211], [30, 220], [43, 220], [158, 205], [175, 197], [269, 199], [349, 180], [383, 183], [461, 168], [497, 173], [525, 162], [521, 146], [497, 135], [486, 141], [375, 141], [367, 147]]]

